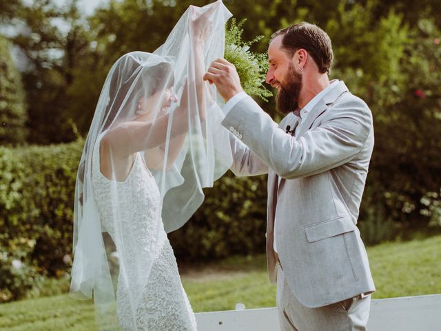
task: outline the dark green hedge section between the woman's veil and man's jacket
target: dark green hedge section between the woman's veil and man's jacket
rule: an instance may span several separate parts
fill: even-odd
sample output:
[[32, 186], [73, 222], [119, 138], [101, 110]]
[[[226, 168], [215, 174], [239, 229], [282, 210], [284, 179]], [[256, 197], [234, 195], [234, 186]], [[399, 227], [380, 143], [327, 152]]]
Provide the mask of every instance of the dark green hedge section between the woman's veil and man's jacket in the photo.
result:
[[265, 252], [267, 177], [228, 172], [205, 189], [205, 201], [183, 228], [169, 234], [178, 259]]

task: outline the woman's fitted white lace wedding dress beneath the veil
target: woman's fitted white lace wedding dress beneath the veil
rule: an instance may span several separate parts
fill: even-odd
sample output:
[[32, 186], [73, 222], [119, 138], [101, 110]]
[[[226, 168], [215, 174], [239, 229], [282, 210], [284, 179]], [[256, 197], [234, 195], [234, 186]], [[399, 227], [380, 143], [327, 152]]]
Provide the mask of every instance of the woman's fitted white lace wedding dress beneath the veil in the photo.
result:
[[[114, 241], [121, 241], [115, 242], [118, 254], [123, 254], [120, 261], [121, 258], [125, 261], [125, 268], [120, 266], [116, 291], [121, 328], [127, 331], [196, 331], [196, 319], [179, 277], [172, 246], [162, 222], [157, 222], [157, 217], [161, 217], [158, 186], [147, 170], [142, 153], [136, 153], [125, 181], [110, 181], [100, 171], [100, 141], [97, 139], [94, 148], [92, 183], [101, 224]], [[117, 208], [112, 208], [114, 203]], [[119, 212], [119, 224], [109, 221], [116, 219], [112, 214], [115, 210]], [[158, 223], [160, 229], [156, 231]], [[151, 269], [147, 267], [150, 270], [148, 279], [141, 281], [136, 272], [145, 270], [145, 265], [139, 263], [152, 259]], [[131, 307], [133, 303], [136, 307]]]

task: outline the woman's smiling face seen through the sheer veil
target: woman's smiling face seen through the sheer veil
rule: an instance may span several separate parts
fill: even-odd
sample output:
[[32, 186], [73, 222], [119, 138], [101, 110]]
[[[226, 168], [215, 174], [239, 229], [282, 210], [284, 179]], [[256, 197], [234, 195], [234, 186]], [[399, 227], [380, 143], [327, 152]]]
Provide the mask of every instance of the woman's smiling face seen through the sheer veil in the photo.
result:
[[[136, 109], [135, 121], [152, 121], [155, 117], [166, 114], [178, 98], [172, 87], [156, 92], [151, 97], [141, 97]], [[159, 109], [159, 113], [156, 111]]]

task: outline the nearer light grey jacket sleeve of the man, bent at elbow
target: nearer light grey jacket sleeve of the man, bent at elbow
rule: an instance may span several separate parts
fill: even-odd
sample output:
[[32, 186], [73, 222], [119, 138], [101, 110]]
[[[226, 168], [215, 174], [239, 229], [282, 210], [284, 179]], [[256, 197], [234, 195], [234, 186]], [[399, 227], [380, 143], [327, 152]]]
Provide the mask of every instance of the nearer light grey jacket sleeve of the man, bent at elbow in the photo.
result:
[[269, 168], [285, 179], [307, 177], [347, 163], [362, 150], [372, 127], [366, 104], [356, 97], [334, 104], [320, 126], [301, 137], [278, 128], [251, 98], [227, 114], [223, 126], [242, 134], [242, 141]]

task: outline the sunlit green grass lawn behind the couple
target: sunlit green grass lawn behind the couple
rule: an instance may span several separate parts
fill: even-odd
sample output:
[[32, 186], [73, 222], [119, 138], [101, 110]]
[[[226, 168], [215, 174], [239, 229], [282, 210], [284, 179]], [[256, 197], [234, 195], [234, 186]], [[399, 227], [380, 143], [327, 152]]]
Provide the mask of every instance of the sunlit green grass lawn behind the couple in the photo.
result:
[[[368, 248], [377, 292], [373, 299], [441, 293], [441, 236]], [[195, 312], [276, 305], [264, 255], [232, 257], [181, 267], [183, 284]], [[93, 305], [67, 295], [0, 305], [0, 330], [91, 331]]]

